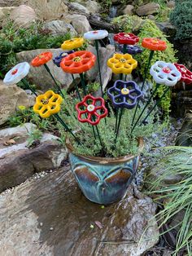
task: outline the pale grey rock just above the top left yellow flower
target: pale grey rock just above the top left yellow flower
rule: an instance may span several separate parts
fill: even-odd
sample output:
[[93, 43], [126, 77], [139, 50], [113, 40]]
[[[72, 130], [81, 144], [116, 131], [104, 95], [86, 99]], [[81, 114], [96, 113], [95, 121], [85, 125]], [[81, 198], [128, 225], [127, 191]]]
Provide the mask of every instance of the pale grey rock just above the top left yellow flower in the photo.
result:
[[72, 37], [77, 35], [76, 30], [72, 27], [71, 24], [66, 23], [63, 20], [52, 20], [47, 22], [43, 29], [50, 30], [52, 35], [61, 35], [70, 32]]

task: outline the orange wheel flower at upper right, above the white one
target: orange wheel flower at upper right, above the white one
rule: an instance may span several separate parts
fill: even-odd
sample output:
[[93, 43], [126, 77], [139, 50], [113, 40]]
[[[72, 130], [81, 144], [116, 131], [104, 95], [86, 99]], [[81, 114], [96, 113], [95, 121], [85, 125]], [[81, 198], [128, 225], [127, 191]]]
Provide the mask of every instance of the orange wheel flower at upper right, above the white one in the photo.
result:
[[143, 38], [142, 47], [151, 51], [164, 51], [167, 48], [167, 44], [158, 38]]

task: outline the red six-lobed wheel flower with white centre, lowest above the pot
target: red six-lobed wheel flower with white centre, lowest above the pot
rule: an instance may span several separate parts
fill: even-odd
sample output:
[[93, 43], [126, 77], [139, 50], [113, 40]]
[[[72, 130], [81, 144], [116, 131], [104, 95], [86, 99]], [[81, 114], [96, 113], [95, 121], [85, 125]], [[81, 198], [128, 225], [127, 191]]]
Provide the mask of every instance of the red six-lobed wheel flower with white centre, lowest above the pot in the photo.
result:
[[92, 126], [97, 126], [99, 121], [106, 117], [108, 113], [105, 100], [91, 95], [86, 95], [80, 103], [76, 104], [76, 111], [79, 121], [88, 122]]

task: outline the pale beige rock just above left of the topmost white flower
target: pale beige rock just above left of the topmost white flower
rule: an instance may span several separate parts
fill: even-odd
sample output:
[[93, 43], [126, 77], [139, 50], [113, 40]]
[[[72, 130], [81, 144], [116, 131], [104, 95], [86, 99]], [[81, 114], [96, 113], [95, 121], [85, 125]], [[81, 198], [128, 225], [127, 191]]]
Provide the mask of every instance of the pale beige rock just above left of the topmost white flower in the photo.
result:
[[71, 23], [73, 28], [76, 29], [76, 32], [81, 35], [88, 32], [89, 30], [92, 30], [89, 21], [87, 20], [85, 15], [66, 15], [64, 19], [66, 20], [66, 22]]

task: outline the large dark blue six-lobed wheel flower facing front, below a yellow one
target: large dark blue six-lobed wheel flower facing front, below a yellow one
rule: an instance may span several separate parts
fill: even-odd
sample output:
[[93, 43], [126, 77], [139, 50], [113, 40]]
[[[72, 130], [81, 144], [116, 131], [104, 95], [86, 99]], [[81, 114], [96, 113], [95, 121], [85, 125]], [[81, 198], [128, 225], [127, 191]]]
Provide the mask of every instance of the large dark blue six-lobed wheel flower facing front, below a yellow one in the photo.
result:
[[142, 97], [142, 91], [138, 89], [136, 82], [117, 80], [114, 86], [107, 90], [107, 95], [109, 95], [112, 104], [116, 108], [131, 109], [136, 106], [138, 99]]

